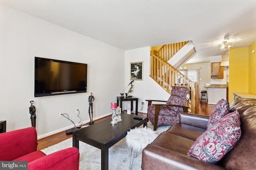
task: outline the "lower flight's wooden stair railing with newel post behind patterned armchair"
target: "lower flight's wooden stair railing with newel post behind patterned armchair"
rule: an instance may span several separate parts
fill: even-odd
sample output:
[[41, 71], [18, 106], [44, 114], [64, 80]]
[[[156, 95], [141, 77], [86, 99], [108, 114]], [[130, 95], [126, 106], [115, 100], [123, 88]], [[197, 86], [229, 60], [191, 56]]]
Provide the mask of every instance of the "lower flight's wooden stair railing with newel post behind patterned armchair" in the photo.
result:
[[179, 70], [167, 63], [162, 57], [151, 53], [150, 77], [153, 78], [164, 90], [171, 94], [173, 86], [187, 87], [191, 93], [188, 106], [191, 113], [198, 113], [198, 83], [192, 82]]

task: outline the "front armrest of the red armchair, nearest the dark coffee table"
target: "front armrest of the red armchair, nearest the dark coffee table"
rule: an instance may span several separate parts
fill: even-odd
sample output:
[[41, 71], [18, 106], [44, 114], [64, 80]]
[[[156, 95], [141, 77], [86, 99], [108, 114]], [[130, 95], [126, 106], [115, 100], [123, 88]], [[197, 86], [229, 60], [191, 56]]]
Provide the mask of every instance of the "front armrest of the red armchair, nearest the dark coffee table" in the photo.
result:
[[79, 156], [76, 147], [59, 150], [28, 163], [28, 170], [79, 170]]

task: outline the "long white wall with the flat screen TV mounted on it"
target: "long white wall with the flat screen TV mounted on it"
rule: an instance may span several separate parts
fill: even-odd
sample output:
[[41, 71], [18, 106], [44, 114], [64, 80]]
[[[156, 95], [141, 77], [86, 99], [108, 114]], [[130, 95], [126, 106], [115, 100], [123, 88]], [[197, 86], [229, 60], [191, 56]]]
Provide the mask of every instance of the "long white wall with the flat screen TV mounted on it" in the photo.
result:
[[[59, 117], [60, 111], [78, 123], [79, 108], [82, 121], [90, 121], [90, 92], [94, 119], [110, 114], [110, 103], [129, 81], [124, 55], [124, 50], [0, 5], [0, 120], [7, 121], [7, 131], [30, 127], [29, 101], [34, 100], [39, 138], [51, 135], [73, 125]], [[34, 98], [34, 57], [87, 63], [88, 92]]]

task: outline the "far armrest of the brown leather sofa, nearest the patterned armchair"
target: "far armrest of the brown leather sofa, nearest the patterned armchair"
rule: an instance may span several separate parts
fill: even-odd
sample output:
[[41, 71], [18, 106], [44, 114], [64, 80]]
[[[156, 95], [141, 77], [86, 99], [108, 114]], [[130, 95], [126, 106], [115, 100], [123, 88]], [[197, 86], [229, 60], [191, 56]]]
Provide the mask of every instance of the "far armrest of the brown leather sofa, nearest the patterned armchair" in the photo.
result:
[[193, 113], [180, 113], [179, 122], [194, 127], [206, 129], [208, 123], [208, 115], [198, 115]]

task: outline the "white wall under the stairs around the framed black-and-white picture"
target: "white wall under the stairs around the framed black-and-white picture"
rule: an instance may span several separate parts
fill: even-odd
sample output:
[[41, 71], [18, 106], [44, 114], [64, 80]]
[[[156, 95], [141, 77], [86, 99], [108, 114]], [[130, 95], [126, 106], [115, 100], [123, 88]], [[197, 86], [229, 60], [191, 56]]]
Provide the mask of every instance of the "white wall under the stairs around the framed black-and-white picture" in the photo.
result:
[[[143, 47], [125, 51], [125, 84], [130, 83], [130, 63], [143, 61], [143, 80], [134, 80], [132, 93], [129, 95], [138, 98], [138, 110], [142, 108], [141, 102], [144, 102], [143, 109], [140, 112], [147, 113], [148, 102], [145, 100], [168, 100], [170, 94], [162, 89], [152, 78], [150, 78], [150, 47]], [[126, 89], [126, 92], [129, 88]], [[134, 102], [135, 103], [135, 102]], [[130, 102], [123, 104], [123, 108], [130, 108]], [[135, 111], [135, 104], [133, 105]]]

